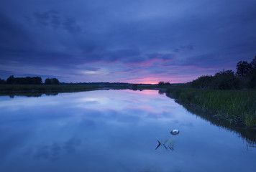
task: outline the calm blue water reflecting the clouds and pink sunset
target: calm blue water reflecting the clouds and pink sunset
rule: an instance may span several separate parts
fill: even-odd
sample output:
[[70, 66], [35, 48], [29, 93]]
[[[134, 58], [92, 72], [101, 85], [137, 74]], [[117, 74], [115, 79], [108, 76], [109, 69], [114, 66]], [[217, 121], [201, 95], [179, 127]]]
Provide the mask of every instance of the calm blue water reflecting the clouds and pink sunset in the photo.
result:
[[[156, 138], [167, 149], [155, 150]], [[237, 133], [154, 90], [0, 97], [1, 172], [256, 171], [255, 162]]]

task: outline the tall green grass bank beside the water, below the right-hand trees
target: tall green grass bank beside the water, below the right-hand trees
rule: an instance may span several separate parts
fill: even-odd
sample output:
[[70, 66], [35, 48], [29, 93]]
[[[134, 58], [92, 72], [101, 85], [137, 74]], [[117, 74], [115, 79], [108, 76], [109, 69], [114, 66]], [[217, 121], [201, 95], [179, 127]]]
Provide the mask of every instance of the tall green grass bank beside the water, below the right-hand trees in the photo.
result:
[[199, 90], [170, 87], [168, 97], [235, 125], [256, 128], [256, 90]]

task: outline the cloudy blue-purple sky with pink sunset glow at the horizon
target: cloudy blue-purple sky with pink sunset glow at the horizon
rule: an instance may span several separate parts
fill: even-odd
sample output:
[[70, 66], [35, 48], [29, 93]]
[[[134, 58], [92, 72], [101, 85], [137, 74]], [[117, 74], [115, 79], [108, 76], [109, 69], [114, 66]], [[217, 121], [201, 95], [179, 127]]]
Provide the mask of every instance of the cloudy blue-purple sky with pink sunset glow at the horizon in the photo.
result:
[[183, 83], [256, 55], [255, 0], [1, 0], [0, 77]]

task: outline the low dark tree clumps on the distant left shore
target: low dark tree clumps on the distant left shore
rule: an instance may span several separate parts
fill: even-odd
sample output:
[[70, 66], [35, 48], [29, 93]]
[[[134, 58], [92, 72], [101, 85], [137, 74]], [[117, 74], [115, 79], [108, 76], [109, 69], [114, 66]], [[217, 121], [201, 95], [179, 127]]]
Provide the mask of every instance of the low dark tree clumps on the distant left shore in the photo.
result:
[[14, 77], [11, 75], [7, 78], [7, 80], [3, 80], [0, 78], [0, 84], [7, 85], [59, 85], [60, 82], [57, 78], [46, 78], [45, 82], [42, 82], [41, 77]]

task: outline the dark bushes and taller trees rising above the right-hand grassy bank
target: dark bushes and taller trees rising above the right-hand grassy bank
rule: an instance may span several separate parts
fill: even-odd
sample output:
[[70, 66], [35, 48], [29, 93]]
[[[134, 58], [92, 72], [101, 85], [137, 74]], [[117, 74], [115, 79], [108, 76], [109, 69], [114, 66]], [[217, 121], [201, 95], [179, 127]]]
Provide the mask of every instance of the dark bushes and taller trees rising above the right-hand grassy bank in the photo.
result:
[[252, 62], [239, 61], [237, 72], [223, 70], [214, 76], [203, 75], [198, 79], [188, 82], [191, 87], [217, 90], [240, 90], [256, 88], [256, 56]]

